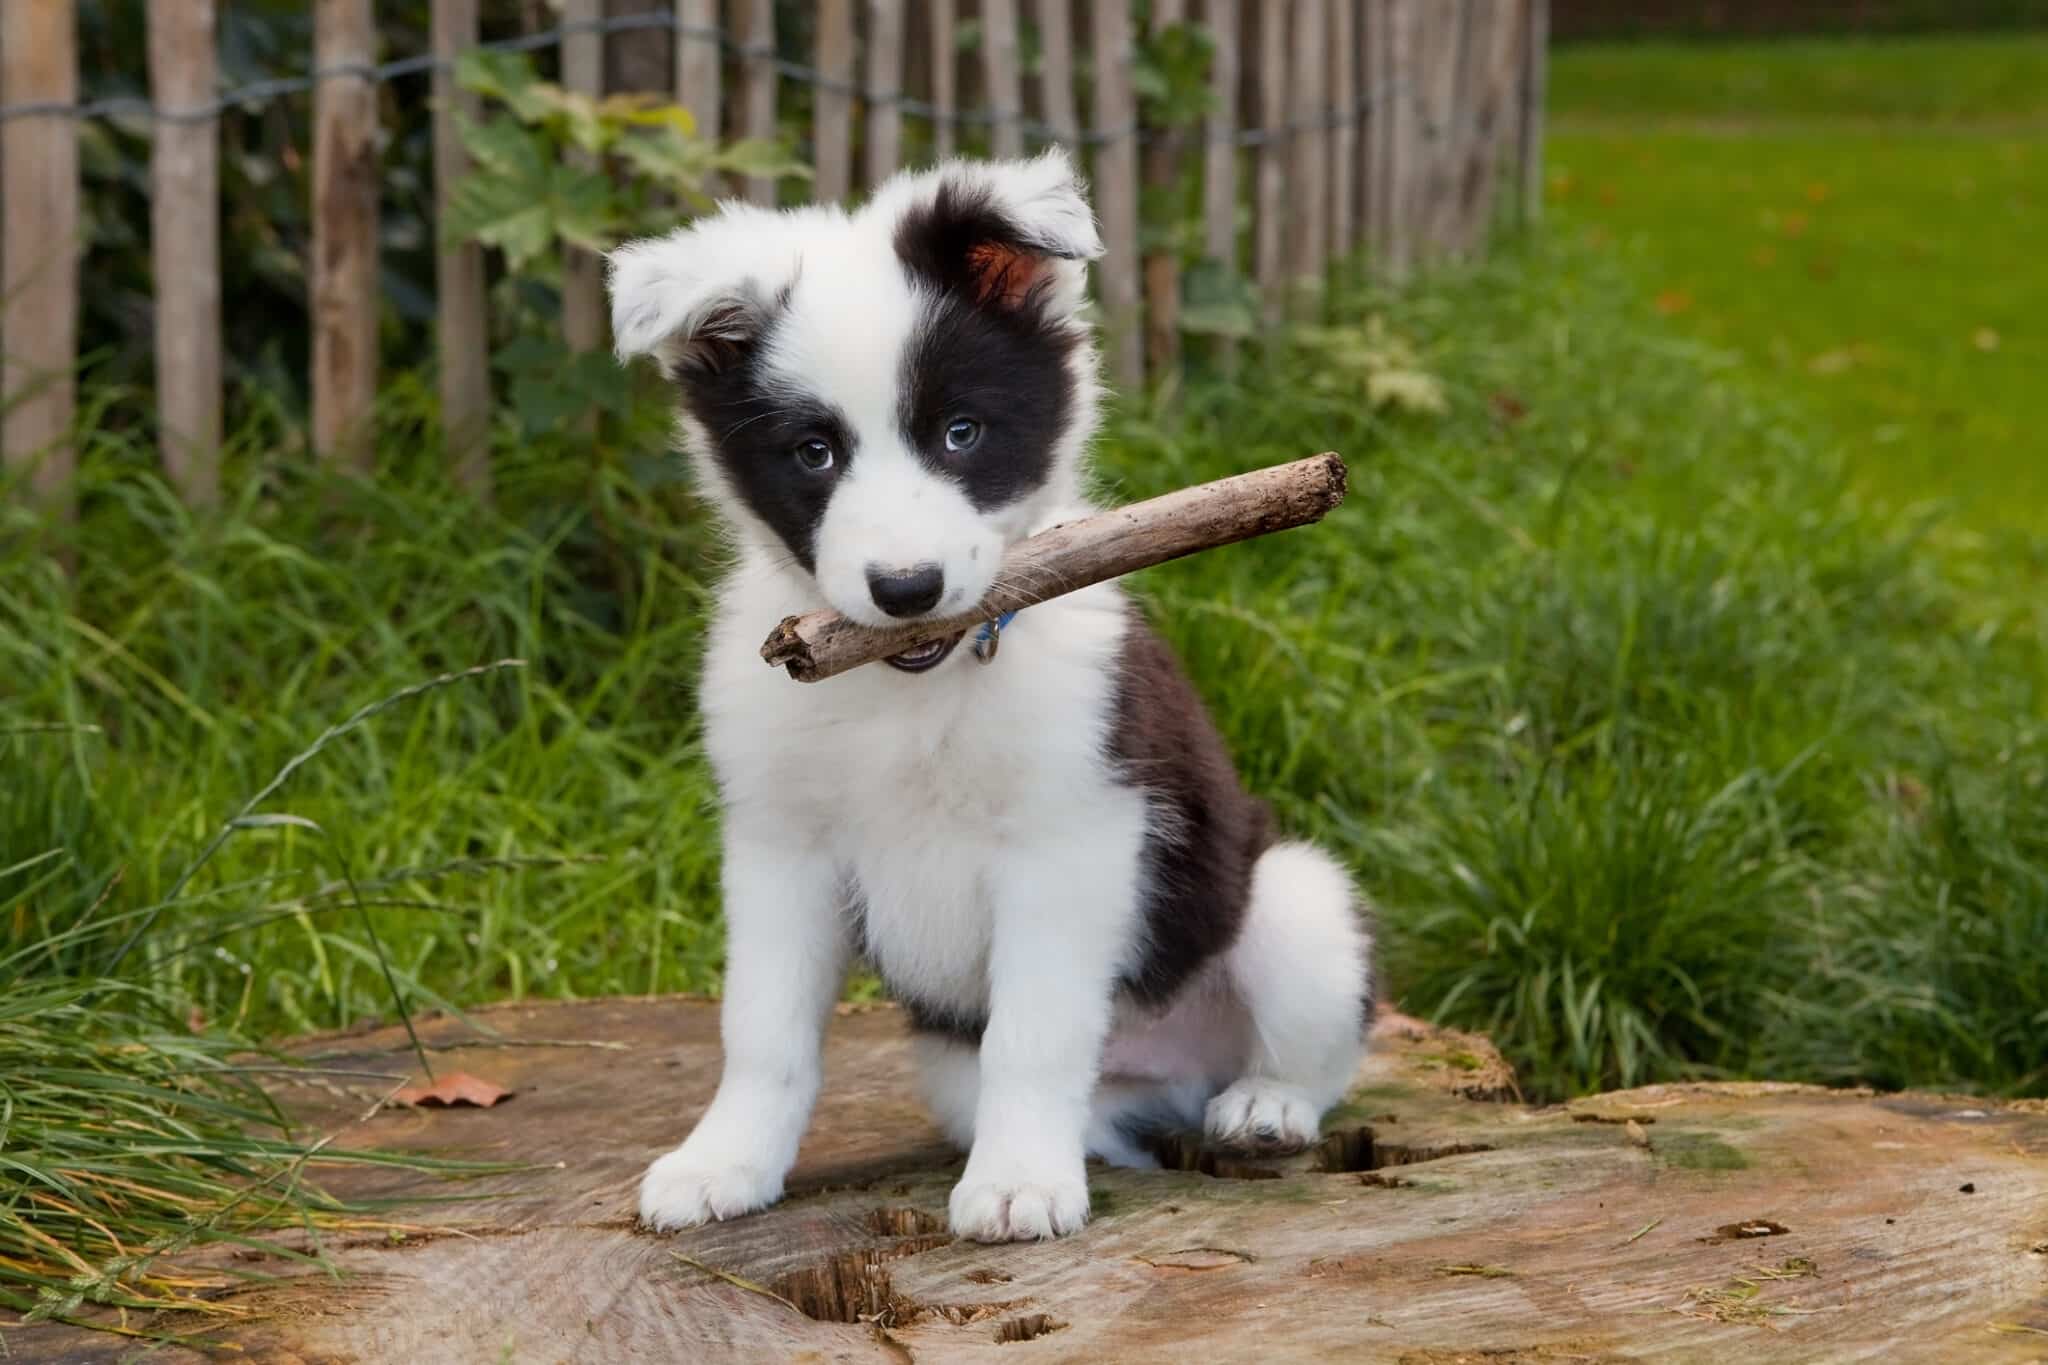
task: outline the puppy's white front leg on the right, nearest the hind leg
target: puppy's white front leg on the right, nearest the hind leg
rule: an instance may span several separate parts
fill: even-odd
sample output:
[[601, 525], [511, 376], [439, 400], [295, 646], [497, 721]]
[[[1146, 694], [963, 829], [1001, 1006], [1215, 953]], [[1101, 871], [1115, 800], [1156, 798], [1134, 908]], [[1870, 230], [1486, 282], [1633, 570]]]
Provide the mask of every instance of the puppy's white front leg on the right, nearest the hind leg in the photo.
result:
[[1133, 802], [991, 868], [989, 1025], [975, 1146], [952, 1189], [958, 1236], [1022, 1242], [1087, 1222], [1090, 1099], [1133, 933], [1143, 833]]

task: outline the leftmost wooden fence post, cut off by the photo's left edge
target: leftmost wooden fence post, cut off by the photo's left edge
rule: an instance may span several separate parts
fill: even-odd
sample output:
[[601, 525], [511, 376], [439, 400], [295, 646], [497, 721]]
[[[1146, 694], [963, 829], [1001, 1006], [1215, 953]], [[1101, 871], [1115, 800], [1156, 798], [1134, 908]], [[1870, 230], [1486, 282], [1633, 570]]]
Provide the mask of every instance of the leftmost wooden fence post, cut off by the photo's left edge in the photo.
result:
[[[72, 0], [0, 4], [0, 104], [78, 100]], [[66, 113], [0, 123], [0, 452], [35, 497], [72, 514], [78, 364], [78, 125]]]

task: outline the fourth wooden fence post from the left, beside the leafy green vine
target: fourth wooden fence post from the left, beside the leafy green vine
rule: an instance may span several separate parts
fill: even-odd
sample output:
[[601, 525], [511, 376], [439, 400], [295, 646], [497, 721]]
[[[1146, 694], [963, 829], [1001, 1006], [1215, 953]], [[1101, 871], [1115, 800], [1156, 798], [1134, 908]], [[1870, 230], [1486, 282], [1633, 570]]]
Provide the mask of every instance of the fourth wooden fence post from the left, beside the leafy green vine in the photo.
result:
[[434, 344], [440, 360], [440, 432], [459, 485], [489, 497], [489, 315], [483, 248], [438, 237], [455, 186], [469, 174], [457, 117], [475, 117], [477, 98], [455, 82], [453, 61], [477, 45], [477, 0], [434, 0]]

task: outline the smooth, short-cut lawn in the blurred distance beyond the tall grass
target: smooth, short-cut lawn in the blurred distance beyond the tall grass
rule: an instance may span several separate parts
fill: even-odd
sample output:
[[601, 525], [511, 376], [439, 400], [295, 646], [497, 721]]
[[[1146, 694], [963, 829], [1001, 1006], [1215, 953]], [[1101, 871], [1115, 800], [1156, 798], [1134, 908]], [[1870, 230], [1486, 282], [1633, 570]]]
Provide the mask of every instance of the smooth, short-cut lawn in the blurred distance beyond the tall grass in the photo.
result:
[[2048, 37], [1571, 47], [1552, 92], [1556, 217], [2048, 587]]

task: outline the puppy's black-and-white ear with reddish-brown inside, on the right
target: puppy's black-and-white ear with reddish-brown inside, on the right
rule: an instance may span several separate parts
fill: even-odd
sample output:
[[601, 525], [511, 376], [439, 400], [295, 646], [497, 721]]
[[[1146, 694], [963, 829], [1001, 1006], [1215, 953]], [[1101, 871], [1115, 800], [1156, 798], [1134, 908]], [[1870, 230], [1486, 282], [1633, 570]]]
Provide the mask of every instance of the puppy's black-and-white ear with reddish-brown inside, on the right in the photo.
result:
[[897, 256], [928, 284], [979, 307], [1079, 311], [1102, 233], [1065, 149], [956, 162], [891, 188]]

